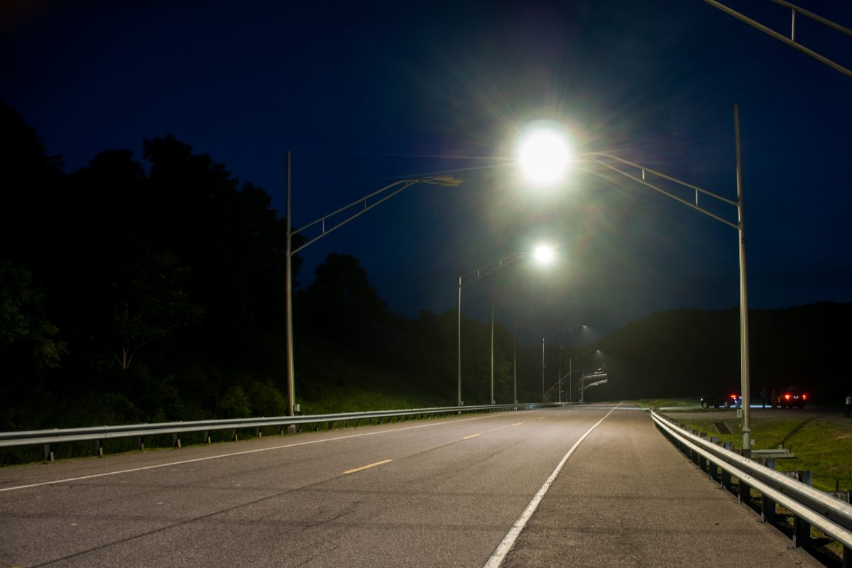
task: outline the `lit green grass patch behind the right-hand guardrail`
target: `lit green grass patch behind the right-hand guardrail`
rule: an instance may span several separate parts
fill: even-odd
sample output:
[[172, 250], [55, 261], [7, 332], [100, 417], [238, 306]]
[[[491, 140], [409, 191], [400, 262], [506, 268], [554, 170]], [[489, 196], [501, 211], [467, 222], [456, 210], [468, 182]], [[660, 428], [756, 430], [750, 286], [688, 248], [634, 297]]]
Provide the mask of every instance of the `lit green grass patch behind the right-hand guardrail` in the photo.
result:
[[[718, 436], [721, 441], [741, 443], [740, 420], [683, 420], [685, 426]], [[719, 433], [714, 422], [723, 422], [731, 431]], [[756, 450], [785, 448], [795, 458], [776, 460], [779, 471], [809, 469], [814, 487], [820, 491], [852, 490], [852, 427], [796, 418], [752, 418], [751, 439]]]

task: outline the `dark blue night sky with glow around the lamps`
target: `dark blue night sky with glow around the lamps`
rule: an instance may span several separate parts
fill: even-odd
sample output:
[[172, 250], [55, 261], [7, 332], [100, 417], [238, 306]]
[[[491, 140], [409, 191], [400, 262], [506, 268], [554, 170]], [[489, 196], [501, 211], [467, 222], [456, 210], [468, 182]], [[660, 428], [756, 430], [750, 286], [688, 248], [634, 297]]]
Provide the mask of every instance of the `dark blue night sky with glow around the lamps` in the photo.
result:
[[[769, 0], [727, 3], [786, 33]], [[849, 2], [798, 4], [852, 27]], [[852, 301], [852, 77], [701, 0], [11, 5], [0, 97], [68, 171], [110, 148], [141, 159], [143, 139], [172, 133], [283, 215], [291, 150], [296, 226], [400, 178], [463, 176], [306, 249], [302, 284], [328, 253], [351, 254], [394, 311], [443, 312], [460, 273], [544, 239], [558, 267], [471, 284], [463, 313], [484, 321], [505, 296], [498, 318], [530, 339], [734, 307], [734, 229], [589, 164], [533, 190], [512, 158], [524, 125], [547, 119], [581, 152], [734, 198], [738, 103], [751, 307]], [[852, 66], [852, 37], [800, 18], [797, 39]]]

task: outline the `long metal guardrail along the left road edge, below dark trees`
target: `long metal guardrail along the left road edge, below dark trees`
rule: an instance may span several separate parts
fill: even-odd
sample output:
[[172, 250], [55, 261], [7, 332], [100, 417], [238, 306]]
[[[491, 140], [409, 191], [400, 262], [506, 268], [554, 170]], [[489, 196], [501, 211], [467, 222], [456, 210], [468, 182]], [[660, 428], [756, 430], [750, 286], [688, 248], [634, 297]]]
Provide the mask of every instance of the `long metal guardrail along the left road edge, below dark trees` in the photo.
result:
[[506, 410], [530, 410], [550, 406], [563, 406], [566, 403], [544, 403], [544, 404], [484, 404], [480, 406], [443, 406], [438, 408], [419, 408], [411, 410], [374, 410], [370, 412], [346, 412], [340, 414], [319, 414], [310, 416], [274, 416], [259, 418], [233, 418], [229, 420], [201, 420], [193, 422], [160, 422], [155, 424], [126, 424], [119, 426], [92, 426], [79, 428], [61, 428], [52, 430], [29, 430], [20, 432], [0, 433], [0, 448], [20, 447], [26, 445], [42, 445], [44, 460], [52, 459], [53, 445], [66, 442], [95, 441], [95, 453], [102, 453], [101, 443], [107, 439], [136, 438], [140, 449], [144, 449], [144, 438], [159, 434], [171, 434], [175, 445], [180, 447], [181, 433], [203, 432], [204, 440], [210, 440], [210, 432], [231, 430], [232, 439], [236, 439], [237, 430], [245, 428], [279, 427], [279, 433], [283, 433], [285, 427], [295, 426], [301, 429], [303, 425], [314, 425], [318, 429], [320, 424], [327, 423], [330, 427], [335, 422], [354, 422], [356, 426], [361, 421], [377, 419], [379, 423], [383, 419], [423, 417], [423, 416], [446, 416], [450, 414], [463, 414], [472, 412], [498, 412]]

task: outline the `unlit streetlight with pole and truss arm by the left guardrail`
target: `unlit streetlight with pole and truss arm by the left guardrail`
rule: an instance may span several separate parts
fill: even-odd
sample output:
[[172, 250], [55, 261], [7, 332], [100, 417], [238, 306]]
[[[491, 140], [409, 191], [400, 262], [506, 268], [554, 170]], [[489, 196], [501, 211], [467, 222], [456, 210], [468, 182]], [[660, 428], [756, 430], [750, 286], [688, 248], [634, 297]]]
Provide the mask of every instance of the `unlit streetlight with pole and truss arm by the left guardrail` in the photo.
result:
[[[462, 184], [461, 178], [454, 177], [452, 175], [440, 174], [440, 175], [427, 175], [424, 177], [411, 179], [411, 180], [400, 180], [394, 181], [388, 186], [384, 186], [382, 189], [379, 189], [375, 192], [370, 193], [369, 195], [364, 196], [363, 198], [357, 199], [356, 201], [348, 204], [336, 211], [329, 213], [328, 215], [323, 215], [316, 221], [311, 221], [307, 225], [299, 227], [296, 230], [292, 229], [292, 208], [291, 208], [291, 163], [292, 163], [292, 152], [287, 152], [287, 210], [286, 210], [286, 262], [285, 262], [285, 278], [286, 278], [286, 302], [285, 302], [285, 310], [286, 310], [286, 336], [287, 336], [287, 411], [289, 416], [295, 416], [295, 372], [293, 369], [293, 276], [292, 276], [292, 257], [296, 255], [300, 250], [307, 247], [309, 244], [314, 244], [320, 238], [325, 237], [332, 231], [337, 230], [343, 225], [346, 225], [349, 221], [353, 221], [356, 217], [360, 217], [360, 215], [364, 215], [370, 209], [373, 209], [378, 204], [382, 204], [387, 201], [389, 198], [394, 197], [399, 192], [407, 189], [408, 187], [417, 185], [417, 184], [427, 184], [433, 186], [446, 186], [446, 187], [457, 187]], [[354, 209], [355, 206], [359, 206], [358, 209]], [[354, 211], [354, 213], [352, 212]], [[343, 221], [336, 221], [336, 219], [340, 219], [343, 217]], [[329, 227], [326, 227], [326, 224], [329, 224]], [[310, 227], [320, 226], [320, 234], [314, 238], [308, 239], [305, 244], [298, 247], [296, 250], [293, 250], [292, 246], [292, 238], [293, 235], [296, 235], [299, 232], [305, 231]], [[289, 427], [290, 431], [293, 431], [295, 427]]]

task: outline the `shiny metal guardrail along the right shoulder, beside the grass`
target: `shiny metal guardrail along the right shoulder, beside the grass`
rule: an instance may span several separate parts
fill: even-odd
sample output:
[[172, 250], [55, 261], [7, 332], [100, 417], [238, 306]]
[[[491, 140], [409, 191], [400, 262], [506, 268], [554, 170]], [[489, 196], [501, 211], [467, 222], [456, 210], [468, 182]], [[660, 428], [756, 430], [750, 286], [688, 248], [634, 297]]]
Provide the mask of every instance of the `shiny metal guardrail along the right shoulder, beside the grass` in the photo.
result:
[[763, 520], [774, 520], [776, 503], [791, 511], [793, 546], [809, 546], [813, 525], [843, 545], [843, 566], [852, 565], [852, 505], [702, 438], [668, 416], [651, 410], [651, 417], [668, 439], [723, 487], [730, 489], [731, 477], [739, 479], [740, 500], [749, 495], [749, 488], [758, 491]]

